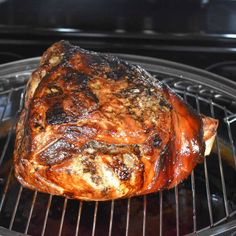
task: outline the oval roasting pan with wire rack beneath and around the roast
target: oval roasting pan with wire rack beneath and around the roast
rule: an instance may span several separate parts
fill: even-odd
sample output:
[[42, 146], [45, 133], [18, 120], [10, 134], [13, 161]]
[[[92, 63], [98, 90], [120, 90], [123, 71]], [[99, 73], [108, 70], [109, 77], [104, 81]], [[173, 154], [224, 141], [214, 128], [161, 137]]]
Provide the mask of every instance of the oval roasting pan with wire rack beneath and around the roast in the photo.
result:
[[219, 119], [211, 155], [172, 190], [83, 202], [23, 188], [12, 152], [25, 84], [39, 58], [0, 66], [0, 233], [2, 235], [210, 235], [236, 231], [236, 84], [153, 58], [118, 55], [164, 81], [199, 113]]

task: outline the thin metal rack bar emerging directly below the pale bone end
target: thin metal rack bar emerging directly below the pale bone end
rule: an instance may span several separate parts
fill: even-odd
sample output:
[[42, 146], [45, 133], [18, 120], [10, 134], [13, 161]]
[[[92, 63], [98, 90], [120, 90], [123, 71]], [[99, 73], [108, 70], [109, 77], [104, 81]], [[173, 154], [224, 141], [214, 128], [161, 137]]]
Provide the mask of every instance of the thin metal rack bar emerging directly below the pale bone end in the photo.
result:
[[[197, 104], [197, 111], [200, 114], [200, 104], [199, 104], [199, 97], [196, 96], [196, 104]], [[207, 192], [207, 205], [208, 205], [208, 212], [210, 218], [210, 225], [213, 225], [213, 214], [212, 214], [212, 204], [211, 204], [211, 192], [209, 186], [209, 177], [208, 177], [208, 169], [207, 169], [207, 162], [206, 158], [204, 158], [204, 173], [205, 173], [205, 180], [206, 180], [206, 192]]]

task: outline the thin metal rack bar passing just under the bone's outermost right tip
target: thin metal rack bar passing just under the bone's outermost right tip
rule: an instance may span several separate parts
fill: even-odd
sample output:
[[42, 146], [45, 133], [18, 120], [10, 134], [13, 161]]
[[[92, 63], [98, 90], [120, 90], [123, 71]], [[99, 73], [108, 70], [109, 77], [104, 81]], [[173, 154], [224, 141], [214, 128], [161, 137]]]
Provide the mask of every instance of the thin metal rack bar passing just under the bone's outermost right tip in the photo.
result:
[[[211, 116], [215, 118], [215, 111], [214, 107], [211, 102]], [[225, 186], [225, 178], [224, 178], [224, 170], [222, 166], [222, 158], [221, 158], [221, 152], [220, 152], [220, 147], [219, 147], [219, 141], [218, 141], [218, 135], [216, 134], [216, 147], [217, 147], [217, 154], [218, 154], [218, 163], [220, 167], [220, 179], [221, 179], [221, 184], [222, 184], [222, 191], [223, 191], [223, 199], [224, 199], [224, 206], [225, 206], [225, 214], [226, 217], [229, 216], [229, 208], [228, 208], [228, 202], [227, 202], [227, 194], [226, 194], [226, 186]]]

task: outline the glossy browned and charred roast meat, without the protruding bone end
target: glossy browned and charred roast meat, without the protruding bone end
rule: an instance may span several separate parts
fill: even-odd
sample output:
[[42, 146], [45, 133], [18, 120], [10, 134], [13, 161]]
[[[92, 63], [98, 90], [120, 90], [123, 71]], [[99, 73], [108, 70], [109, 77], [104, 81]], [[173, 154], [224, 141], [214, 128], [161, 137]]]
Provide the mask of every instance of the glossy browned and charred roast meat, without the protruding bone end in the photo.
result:
[[204, 151], [202, 119], [168, 87], [61, 41], [28, 82], [14, 164], [31, 189], [107, 200], [174, 187]]

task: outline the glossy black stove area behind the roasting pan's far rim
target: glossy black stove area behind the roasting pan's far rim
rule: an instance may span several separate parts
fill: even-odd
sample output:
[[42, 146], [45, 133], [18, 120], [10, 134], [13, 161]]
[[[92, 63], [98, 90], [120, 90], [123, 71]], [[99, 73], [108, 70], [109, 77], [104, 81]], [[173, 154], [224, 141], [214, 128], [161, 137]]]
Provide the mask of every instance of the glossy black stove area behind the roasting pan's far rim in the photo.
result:
[[204, 69], [220, 63], [216, 73], [223, 63], [234, 79], [236, 1], [0, 0], [0, 63], [40, 56], [61, 39]]

